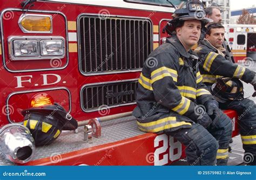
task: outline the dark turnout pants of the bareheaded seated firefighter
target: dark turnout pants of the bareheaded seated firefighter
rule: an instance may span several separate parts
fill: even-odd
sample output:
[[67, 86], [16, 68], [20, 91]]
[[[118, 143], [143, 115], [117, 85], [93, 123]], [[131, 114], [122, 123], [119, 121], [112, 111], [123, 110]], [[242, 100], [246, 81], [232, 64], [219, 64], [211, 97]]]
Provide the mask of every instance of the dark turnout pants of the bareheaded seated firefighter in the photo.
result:
[[219, 103], [221, 109], [231, 109], [238, 113], [238, 124], [245, 149], [244, 161], [256, 165], [256, 106], [253, 100], [233, 100]]

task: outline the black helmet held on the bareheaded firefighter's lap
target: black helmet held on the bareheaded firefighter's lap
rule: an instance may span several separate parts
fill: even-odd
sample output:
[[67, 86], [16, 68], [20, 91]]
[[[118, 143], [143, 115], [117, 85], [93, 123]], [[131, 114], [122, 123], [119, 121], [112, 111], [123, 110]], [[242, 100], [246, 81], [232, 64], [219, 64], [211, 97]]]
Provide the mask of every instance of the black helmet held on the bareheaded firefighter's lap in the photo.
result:
[[238, 78], [218, 78], [212, 85], [212, 92], [220, 103], [244, 99], [244, 87]]

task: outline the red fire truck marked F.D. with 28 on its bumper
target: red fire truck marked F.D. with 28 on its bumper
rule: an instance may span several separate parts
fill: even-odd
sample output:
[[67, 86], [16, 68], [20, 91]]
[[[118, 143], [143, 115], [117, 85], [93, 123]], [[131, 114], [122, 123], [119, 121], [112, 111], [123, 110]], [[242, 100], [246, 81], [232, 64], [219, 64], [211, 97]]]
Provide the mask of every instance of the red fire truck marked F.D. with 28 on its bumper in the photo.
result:
[[[139, 131], [131, 116], [143, 62], [167, 36], [172, 4], [1, 0], [0, 11], [0, 126], [22, 123], [22, 110], [53, 102], [80, 126], [93, 125], [89, 143], [84, 127], [63, 131], [25, 165], [165, 165], [185, 157], [180, 142]], [[237, 114], [226, 113], [237, 135]]]

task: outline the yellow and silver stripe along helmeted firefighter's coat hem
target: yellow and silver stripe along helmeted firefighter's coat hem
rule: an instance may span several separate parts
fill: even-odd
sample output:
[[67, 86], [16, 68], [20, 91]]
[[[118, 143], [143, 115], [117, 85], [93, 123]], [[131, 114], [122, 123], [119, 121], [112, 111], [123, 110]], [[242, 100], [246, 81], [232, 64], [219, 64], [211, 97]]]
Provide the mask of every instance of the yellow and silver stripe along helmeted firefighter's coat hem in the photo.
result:
[[163, 119], [159, 119], [157, 121], [152, 121], [150, 123], [139, 123], [137, 121], [138, 127], [141, 131], [156, 133], [160, 131], [164, 131], [164, 129], [169, 129], [173, 127], [189, 125], [191, 123], [186, 123], [185, 121], [177, 122], [176, 117], [167, 117]]

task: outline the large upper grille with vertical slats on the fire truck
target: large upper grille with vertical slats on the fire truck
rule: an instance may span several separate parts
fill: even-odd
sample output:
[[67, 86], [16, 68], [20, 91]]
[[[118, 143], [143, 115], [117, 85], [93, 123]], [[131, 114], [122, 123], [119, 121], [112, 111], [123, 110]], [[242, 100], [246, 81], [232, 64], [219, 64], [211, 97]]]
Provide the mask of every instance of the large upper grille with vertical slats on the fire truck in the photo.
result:
[[84, 15], [78, 25], [79, 63], [84, 74], [140, 70], [152, 51], [150, 20]]

